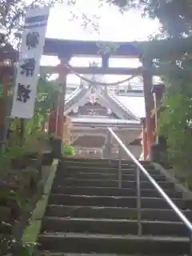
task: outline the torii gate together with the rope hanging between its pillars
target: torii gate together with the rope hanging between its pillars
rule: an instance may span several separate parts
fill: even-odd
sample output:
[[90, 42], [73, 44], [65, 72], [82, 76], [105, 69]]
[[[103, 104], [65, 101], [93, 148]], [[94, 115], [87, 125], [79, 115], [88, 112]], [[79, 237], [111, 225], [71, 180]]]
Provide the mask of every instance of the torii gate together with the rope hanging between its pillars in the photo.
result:
[[[163, 42], [165, 44], [165, 42]], [[157, 109], [157, 100], [162, 94], [161, 86], [153, 84], [153, 76], [162, 74], [162, 70], [154, 67], [154, 58], [158, 58], [158, 49], [162, 48], [163, 44], [158, 42], [156, 50], [150, 49], [151, 42], [83, 42], [70, 41], [46, 38], [44, 46], [44, 55], [57, 56], [60, 60], [58, 66], [42, 66], [41, 74], [58, 74], [58, 83], [61, 86], [60, 100], [58, 103], [57, 118], [54, 118], [56, 129], [54, 132], [60, 138], [63, 137], [63, 113], [64, 113], [64, 99], [66, 98], [66, 78], [68, 74], [75, 74], [84, 82], [90, 83], [92, 86], [113, 86], [121, 84], [122, 82], [129, 82], [132, 78], [142, 76], [143, 93], [145, 98], [145, 113], [146, 117], [141, 120], [142, 129], [142, 152], [144, 159], [150, 152], [150, 147], [154, 144], [154, 130], [155, 120], [152, 115], [152, 110]], [[101, 47], [102, 45], [102, 47]], [[114, 50], [109, 50], [110, 46]], [[155, 46], [153, 45], [154, 49]], [[106, 49], [106, 50], [105, 50]], [[108, 49], [108, 50], [107, 50]], [[102, 66], [71, 66], [70, 59], [74, 57], [100, 57], [102, 59]], [[138, 58], [141, 66], [137, 68], [128, 67], [110, 67], [110, 58]], [[82, 74], [121, 74], [127, 75], [123, 81], [114, 83], [105, 83], [98, 81], [91, 81], [89, 78], [82, 76]], [[137, 107], [137, 106], [135, 106]], [[157, 114], [156, 114], [157, 115]]]

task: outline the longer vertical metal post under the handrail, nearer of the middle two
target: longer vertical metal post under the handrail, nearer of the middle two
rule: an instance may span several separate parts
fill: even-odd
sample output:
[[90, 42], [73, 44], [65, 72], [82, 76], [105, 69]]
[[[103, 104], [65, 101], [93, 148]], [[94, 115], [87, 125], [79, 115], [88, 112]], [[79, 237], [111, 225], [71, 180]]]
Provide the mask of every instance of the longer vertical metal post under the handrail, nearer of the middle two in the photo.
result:
[[141, 197], [141, 171], [137, 169], [137, 212], [138, 212], [138, 236], [142, 236], [142, 197]]

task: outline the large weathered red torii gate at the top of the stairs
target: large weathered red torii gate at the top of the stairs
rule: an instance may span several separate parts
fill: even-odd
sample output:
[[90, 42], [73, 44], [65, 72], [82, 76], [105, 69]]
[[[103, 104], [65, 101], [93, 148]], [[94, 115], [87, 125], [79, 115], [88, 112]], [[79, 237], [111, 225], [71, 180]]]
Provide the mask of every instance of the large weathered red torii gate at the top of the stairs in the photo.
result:
[[[162, 58], [169, 54], [181, 53], [183, 49], [191, 49], [191, 39], [160, 40], [155, 42], [99, 42], [103, 45], [116, 45], [116, 50], [112, 54], [102, 53], [98, 42], [84, 42], [71, 40], [58, 40], [46, 38], [44, 55], [57, 56], [60, 59], [58, 66], [42, 66], [43, 74], [59, 74], [58, 81], [62, 88], [62, 94], [58, 103], [58, 114], [52, 114], [52, 122], [56, 128], [56, 133], [62, 138], [63, 133], [63, 112], [64, 98], [66, 94], [66, 77], [71, 73], [68, 63], [72, 57], [95, 57], [102, 58], [102, 67], [73, 67], [78, 74], [126, 74], [142, 75], [144, 97], [146, 105], [146, 118], [143, 126], [143, 149], [145, 158], [150, 152], [150, 147], [154, 144], [154, 118], [151, 118], [151, 110], [154, 109], [154, 98], [152, 94], [153, 75], [163, 74], [162, 70], [154, 68], [154, 58]], [[176, 45], [176, 47], [172, 47]], [[110, 68], [109, 58], [139, 58], [142, 62], [141, 68]], [[53, 124], [53, 123], [52, 123]]]

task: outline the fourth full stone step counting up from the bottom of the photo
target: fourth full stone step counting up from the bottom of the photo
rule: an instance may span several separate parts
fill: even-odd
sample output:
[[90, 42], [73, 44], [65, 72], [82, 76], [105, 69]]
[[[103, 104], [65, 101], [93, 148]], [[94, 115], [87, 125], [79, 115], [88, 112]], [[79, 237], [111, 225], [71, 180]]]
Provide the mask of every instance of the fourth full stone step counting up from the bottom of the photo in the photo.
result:
[[[175, 198], [173, 201], [182, 210], [192, 209], [190, 200]], [[163, 198], [142, 198], [142, 208], [149, 209], [169, 209]], [[118, 206], [137, 207], [136, 197], [111, 197], [111, 196], [87, 196], [70, 194], [50, 194], [49, 204], [65, 206]]]

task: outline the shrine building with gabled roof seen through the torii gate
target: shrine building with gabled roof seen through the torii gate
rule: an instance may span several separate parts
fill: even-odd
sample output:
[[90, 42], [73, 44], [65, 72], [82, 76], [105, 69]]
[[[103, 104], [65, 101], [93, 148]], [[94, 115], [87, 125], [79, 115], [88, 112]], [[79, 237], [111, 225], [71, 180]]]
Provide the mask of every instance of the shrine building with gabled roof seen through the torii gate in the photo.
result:
[[[116, 86], [117, 88], [117, 86]], [[142, 123], [145, 116], [143, 90], [110, 89], [81, 81], [66, 86], [64, 141], [74, 146], [77, 157], [105, 158], [108, 126], [139, 158], [142, 154]], [[70, 138], [69, 138], [70, 136]], [[112, 158], [118, 158], [118, 145], [112, 143]], [[124, 156], [126, 157], [126, 155]]]

